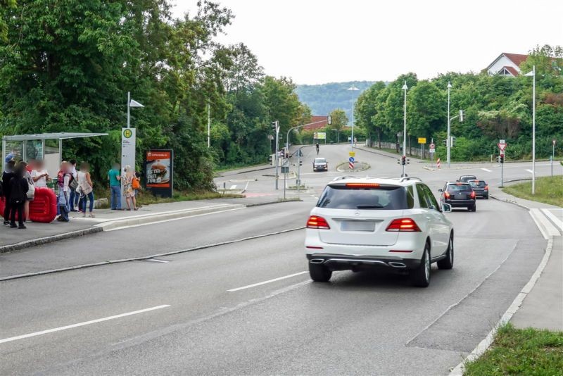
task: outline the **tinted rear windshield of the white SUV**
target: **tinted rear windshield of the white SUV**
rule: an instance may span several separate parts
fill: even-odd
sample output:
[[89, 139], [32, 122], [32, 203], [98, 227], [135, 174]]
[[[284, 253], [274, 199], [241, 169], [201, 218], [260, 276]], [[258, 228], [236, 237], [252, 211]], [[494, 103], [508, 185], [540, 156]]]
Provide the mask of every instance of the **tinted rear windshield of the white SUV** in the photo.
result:
[[407, 189], [396, 185], [367, 188], [328, 185], [317, 202], [319, 208], [354, 210], [402, 210], [413, 205], [412, 199], [407, 201]]

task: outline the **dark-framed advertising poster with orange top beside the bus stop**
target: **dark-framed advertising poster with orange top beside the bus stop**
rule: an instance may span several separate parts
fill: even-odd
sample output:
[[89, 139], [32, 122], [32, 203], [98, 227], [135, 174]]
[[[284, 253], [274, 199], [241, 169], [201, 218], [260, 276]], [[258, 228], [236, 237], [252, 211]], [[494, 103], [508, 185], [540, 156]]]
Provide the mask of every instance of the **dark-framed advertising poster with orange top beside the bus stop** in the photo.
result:
[[163, 197], [172, 197], [174, 153], [171, 149], [146, 152], [146, 189]]

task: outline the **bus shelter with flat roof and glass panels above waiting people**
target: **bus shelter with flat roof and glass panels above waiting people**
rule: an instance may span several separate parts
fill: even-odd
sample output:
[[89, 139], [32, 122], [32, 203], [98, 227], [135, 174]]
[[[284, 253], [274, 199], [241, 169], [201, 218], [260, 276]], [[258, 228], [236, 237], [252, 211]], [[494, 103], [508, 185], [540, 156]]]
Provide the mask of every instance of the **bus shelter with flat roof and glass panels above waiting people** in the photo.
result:
[[2, 137], [2, 164], [6, 159], [32, 159], [44, 162], [49, 175], [54, 176], [63, 161], [63, 140], [107, 136], [107, 133], [38, 133]]

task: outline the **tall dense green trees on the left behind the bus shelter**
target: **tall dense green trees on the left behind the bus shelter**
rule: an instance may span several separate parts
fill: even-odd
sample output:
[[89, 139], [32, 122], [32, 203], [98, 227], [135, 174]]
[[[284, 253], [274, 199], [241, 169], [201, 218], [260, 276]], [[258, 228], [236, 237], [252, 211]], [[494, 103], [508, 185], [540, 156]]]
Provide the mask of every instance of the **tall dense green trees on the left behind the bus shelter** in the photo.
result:
[[119, 160], [127, 92], [145, 105], [132, 111], [137, 164], [148, 148], [175, 149], [179, 189], [210, 189], [214, 164], [265, 161], [270, 122], [286, 130], [310, 115], [291, 80], [265, 77], [243, 44], [217, 42], [234, 15], [213, 2], [179, 19], [168, 0], [0, 8], [0, 134], [108, 132], [65, 144], [64, 158], [89, 161], [97, 178]]

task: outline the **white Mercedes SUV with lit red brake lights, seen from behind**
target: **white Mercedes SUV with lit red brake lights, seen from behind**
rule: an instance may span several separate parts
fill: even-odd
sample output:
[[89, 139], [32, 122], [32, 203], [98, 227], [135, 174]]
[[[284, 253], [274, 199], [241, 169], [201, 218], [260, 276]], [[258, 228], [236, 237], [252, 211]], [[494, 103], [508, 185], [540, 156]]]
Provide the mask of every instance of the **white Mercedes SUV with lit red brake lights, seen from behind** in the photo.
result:
[[407, 270], [427, 287], [431, 263], [453, 268], [453, 224], [416, 177], [337, 178], [324, 188], [307, 221], [305, 249], [312, 280], [334, 270]]

